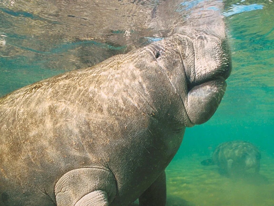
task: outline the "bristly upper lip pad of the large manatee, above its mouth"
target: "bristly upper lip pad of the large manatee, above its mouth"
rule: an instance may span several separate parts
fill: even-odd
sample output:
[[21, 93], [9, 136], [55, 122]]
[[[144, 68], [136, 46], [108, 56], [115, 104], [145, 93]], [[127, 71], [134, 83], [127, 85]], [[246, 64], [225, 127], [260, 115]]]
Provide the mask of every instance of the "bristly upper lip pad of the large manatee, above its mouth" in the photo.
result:
[[194, 66], [187, 68], [189, 87], [216, 79], [227, 79], [232, 70], [230, 48], [225, 37], [207, 32], [190, 34], [194, 50]]

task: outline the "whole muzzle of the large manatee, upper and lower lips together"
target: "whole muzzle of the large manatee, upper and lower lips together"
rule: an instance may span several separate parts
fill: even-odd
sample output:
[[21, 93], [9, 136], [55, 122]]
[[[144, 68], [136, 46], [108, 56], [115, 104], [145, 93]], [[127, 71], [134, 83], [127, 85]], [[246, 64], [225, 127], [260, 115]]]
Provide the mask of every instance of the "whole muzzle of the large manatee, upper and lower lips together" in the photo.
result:
[[218, 108], [226, 91], [226, 79], [232, 65], [230, 50], [224, 37], [207, 32], [190, 33], [193, 66], [185, 68], [188, 82], [186, 112], [190, 122], [202, 124]]

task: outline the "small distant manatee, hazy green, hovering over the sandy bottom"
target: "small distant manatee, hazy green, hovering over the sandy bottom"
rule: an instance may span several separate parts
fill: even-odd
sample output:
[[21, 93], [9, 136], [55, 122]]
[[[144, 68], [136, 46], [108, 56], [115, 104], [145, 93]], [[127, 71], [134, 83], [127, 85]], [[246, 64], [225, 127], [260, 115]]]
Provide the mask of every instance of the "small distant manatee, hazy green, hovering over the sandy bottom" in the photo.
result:
[[254, 168], [260, 170], [261, 153], [252, 143], [246, 141], [229, 141], [219, 144], [213, 152], [212, 159], [203, 160], [202, 165], [217, 165], [220, 172], [231, 176]]

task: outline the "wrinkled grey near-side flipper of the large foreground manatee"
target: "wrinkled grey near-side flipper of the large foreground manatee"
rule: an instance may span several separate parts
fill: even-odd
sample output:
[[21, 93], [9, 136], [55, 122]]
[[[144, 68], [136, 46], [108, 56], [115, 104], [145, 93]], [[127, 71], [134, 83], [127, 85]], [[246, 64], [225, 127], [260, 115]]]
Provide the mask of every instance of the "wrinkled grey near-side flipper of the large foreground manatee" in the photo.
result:
[[73, 169], [55, 185], [57, 206], [107, 206], [115, 195], [116, 181], [106, 168]]

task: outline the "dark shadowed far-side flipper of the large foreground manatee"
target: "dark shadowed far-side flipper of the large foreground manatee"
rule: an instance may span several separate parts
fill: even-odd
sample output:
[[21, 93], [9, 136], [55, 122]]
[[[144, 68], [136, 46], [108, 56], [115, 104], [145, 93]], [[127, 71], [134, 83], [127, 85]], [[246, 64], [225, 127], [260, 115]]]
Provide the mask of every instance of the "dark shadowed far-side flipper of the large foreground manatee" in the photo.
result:
[[165, 172], [139, 197], [139, 206], [165, 206], [167, 197]]

